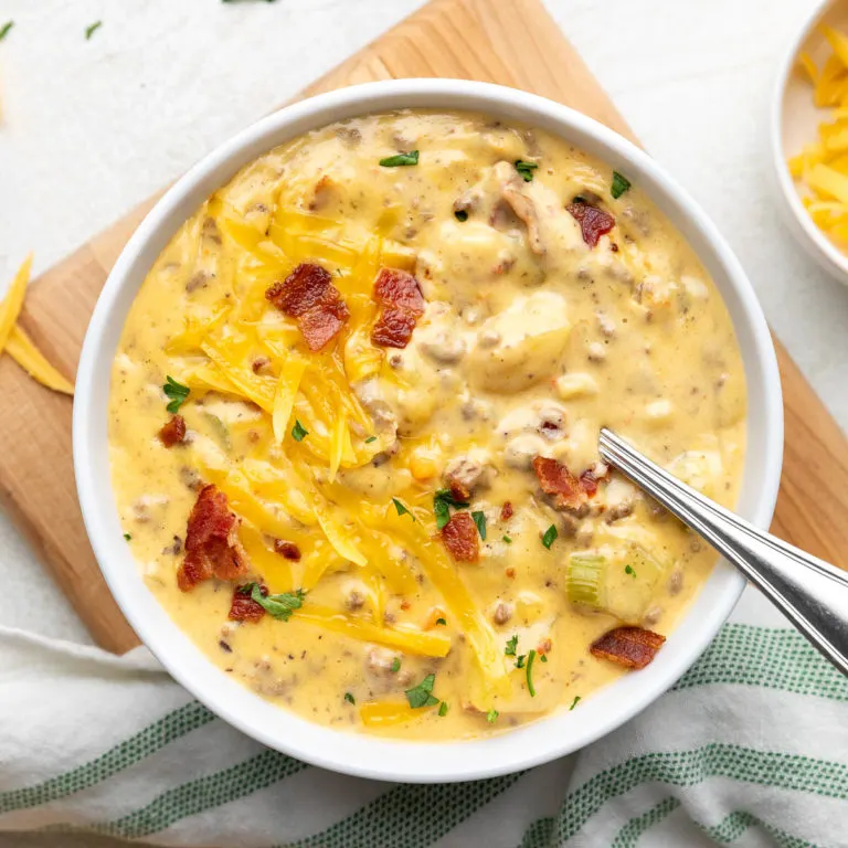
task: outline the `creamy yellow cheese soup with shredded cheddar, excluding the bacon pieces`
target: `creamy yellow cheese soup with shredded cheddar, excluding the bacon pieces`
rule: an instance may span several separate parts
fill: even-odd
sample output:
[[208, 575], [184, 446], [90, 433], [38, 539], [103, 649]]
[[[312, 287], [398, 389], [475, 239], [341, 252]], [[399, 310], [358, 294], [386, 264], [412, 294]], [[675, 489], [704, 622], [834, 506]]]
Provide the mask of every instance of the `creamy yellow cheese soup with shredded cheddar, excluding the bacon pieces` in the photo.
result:
[[[409, 149], [417, 166], [379, 165]], [[532, 182], [517, 159], [539, 165]], [[225, 674], [325, 724], [458, 739], [568, 707], [622, 674], [587, 651], [616, 625], [610, 611], [674, 627], [712, 554], [615, 476], [571, 515], [531, 468], [541, 455], [580, 474], [608, 424], [735, 499], [745, 388], [730, 318], [638, 187], [613, 199], [611, 183], [608, 167], [545, 132], [404, 112], [272, 150], [178, 231], [115, 360], [113, 480], [148, 584]], [[616, 219], [593, 248], [565, 210], [577, 194]], [[265, 297], [301, 262], [330, 272], [350, 311], [317, 353]], [[414, 272], [426, 300], [402, 350], [371, 342], [381, 267]], [[156, 438], [167, 375], [191, 389], [189, 441], [171, 449]], [[229, 622], [230, 584], [177, 587], [173, 537], [184, 538], [198, 476], [242, 519], [251, 577], [306, 591], [288, 622]], [[449, 476], [485, 517], [478, 562], [455, 562], [439, 539], [434, 495]], [[275, 539], [300, 559], [276, 553]], [[600, 611], [569, 601], [581, 551], [611, 563]], [[645, 571], [635, 582], [632, 561]], [[523, 658], [541, 649], [531, 696]], [[404, 698], [430, 675], [445, 710]]]

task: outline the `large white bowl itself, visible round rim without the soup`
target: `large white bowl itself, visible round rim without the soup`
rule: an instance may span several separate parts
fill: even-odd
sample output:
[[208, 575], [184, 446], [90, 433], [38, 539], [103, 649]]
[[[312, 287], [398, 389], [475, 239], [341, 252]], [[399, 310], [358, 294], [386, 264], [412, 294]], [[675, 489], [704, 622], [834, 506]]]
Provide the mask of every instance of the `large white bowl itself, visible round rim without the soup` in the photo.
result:
[[118, 258], [88, 327], [74, 403], [74, 465], [83, 517], [115, 600], [171, 675], [210, 710], [271, 748], [315, 765], [391, 781], [463, 781], [568, 754], [623, 724], [697, 659], [736, 603], [744, 580], [720, 563], [654, 662], [593, 695], [579, 710], [488, 739], [414, 743], [330, 730], [274, 707], [219, 670], [146, 587], [118, 522], [108, 455], [112, 361], [136, 293], [182, 222], [247, 162], [335, 120], [398, 108], [474, 109], [555, 132], [626, 173], [679, 229], [730, 310], [749, 386], [748, 456], [739, 512], [765, 528], [781, 476], [783, 406], [777, 363], [754, 292], [724, 240], [689, 195], [629, 141], [556, 103], [483, 83], [403, 80], [344, 88], [289, 106], [210, 153], [153, 208]]

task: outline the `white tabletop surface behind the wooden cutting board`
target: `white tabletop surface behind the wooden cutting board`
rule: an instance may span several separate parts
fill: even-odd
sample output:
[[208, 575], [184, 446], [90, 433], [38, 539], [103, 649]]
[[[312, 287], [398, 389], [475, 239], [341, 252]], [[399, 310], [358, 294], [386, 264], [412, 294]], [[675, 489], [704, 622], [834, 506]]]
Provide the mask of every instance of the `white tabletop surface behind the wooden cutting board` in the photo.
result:
[[[815, 0], [547, 1], [647, 148], [718, 222], [848, 426], [848, 289], [791, 241], [768, 171], [777, 60]], [[0, 25], [15, 21], [0, 43], [0, 280], [29, 250], [39, 271], [60, 259], [421, 4], [0, 0]], [[0, 581], [0, 623], [87, 640], [4, 518]]]

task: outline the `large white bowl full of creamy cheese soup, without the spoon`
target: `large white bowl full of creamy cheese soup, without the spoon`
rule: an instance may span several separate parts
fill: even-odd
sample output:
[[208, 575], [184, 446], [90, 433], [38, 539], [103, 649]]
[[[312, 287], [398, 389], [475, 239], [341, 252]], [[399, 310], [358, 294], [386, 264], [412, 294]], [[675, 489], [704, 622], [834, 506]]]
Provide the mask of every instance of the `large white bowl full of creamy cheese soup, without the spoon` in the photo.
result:
[[780, 381], [736, 259], [583, 115], [398, 81], [159, 201], [86, 336], [74, 458], [118, 604], [199, 700], [316, 765], [456, 781], [621, 725], [743, 589], [602, 426], [767, 527]]

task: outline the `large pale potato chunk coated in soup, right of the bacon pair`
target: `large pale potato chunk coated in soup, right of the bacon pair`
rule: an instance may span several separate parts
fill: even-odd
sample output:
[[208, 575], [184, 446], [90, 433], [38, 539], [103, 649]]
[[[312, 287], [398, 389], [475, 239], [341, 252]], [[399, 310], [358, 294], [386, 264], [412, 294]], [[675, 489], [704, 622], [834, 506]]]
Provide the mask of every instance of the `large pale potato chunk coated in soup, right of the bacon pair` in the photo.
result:
[[551, 292], [519, 297], [485, 321], [471, 350], [475, 379], [491, 392], [516, 392], [551, 375], [569, 340], [565, 299]]

